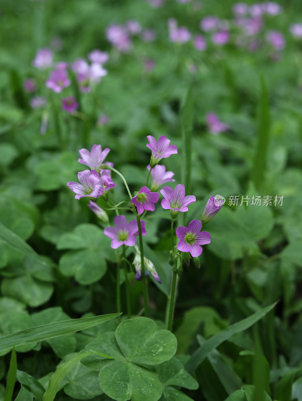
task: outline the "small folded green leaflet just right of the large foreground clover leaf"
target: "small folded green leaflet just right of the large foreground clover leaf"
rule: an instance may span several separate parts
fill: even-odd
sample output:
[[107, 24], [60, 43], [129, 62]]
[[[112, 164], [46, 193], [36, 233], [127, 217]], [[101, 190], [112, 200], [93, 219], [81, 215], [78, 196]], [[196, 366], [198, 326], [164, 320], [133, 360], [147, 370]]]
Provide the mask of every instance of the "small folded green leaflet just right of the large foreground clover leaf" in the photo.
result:
[[156, 371], [164, 386], [178, 385], [196, 390], [198, 382], [185, 370], [184, 365], [176, 357], [156, 366]]

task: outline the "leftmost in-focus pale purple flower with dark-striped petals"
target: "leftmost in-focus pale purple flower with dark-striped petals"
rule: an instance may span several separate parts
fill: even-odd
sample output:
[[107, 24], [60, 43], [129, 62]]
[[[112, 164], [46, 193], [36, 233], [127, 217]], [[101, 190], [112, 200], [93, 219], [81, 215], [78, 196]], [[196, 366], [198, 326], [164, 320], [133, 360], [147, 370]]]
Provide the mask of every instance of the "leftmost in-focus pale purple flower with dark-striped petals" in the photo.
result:
[[100, 197], [104, 192], [104, 188], [100, 184], [100, 177], [95, 170], [84, 170], [78, 172], [78, 180], [67, 182], [67, 186], [76, 193], [75, 199], [80, 199], [84, 196]]

